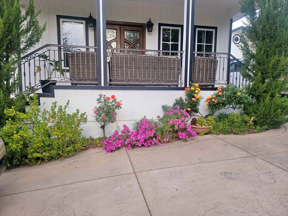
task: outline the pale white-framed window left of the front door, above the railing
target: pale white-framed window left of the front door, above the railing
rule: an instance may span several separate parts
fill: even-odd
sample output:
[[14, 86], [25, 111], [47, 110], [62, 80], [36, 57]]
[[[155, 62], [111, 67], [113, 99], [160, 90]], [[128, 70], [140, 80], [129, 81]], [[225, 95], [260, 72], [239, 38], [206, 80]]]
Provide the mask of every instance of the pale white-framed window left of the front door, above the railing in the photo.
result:
[[60, 19], [61, 44], [85, 46], [85, 21]]

